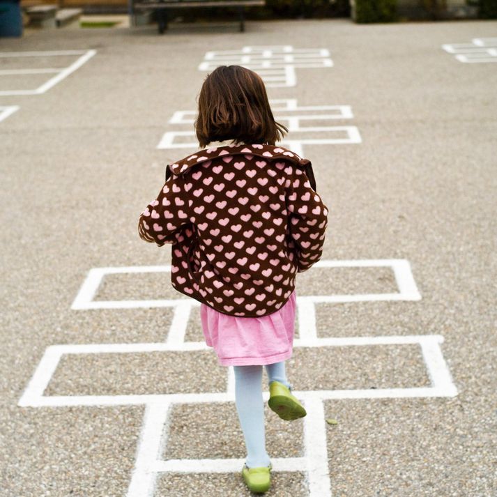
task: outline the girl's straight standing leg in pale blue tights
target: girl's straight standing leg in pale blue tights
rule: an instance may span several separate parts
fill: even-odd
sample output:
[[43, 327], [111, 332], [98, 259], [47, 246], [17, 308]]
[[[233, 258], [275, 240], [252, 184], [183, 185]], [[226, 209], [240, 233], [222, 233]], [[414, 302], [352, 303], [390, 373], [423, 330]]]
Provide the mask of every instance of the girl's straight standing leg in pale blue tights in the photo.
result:
[[262, 366], [234, 366], [235, 399], [238, 419], [247, 448], [249, 468], [269, 466], [264, 428]]

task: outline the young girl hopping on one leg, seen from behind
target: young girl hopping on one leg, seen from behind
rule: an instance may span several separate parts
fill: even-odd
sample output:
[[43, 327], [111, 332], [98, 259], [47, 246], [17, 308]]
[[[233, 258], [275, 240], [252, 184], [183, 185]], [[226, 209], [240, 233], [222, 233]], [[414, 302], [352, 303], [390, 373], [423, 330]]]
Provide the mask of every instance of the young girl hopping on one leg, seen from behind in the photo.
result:
[[270, 487], [262, 397], [284, 420], [306, 415], [291, 394], [285, 360], [293, 351], [296, 273], [321, 258], [328, 208], [311, 163], [275, 146], [288, 132], [275, 122], [259, 75], [220, 66], [199, 94], [201, 150], [167, 166], [166, 182], [139, 219], [139, 235], [172, 244], [171, 284], [201, 302], [206, 344], [233, 366], [245, 438], [243, 480]]

